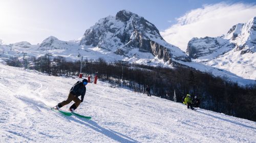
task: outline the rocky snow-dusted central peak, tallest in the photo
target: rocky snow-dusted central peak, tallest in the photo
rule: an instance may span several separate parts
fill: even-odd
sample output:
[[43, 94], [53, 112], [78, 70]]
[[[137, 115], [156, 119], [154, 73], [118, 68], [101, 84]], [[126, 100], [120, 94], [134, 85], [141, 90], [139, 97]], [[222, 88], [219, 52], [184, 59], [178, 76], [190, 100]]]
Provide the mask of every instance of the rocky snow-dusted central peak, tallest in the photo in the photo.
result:
[[153, 54], [164, 62], [190, 61], [182, 50], [163, 40], [154, 24], [126, 10], [119, 11], [115, 17], [100, 19], [86, 30], [80, 45], [99, 47], [127, 58], [132, 58], [137, 50]]

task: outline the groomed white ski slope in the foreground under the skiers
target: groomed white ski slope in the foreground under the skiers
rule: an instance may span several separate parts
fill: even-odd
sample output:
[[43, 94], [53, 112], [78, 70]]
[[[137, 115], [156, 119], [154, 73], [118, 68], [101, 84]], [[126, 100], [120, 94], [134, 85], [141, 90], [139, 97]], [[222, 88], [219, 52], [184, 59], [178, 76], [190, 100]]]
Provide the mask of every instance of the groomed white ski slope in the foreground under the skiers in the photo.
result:
[[77, 80], [0, 65], [0, 142], [256, 141], [256, 122], [186, 109], [102, 81], [87, 85], [76, 110], [92, 120], [51, 111], [48, 106], [65, 100]]

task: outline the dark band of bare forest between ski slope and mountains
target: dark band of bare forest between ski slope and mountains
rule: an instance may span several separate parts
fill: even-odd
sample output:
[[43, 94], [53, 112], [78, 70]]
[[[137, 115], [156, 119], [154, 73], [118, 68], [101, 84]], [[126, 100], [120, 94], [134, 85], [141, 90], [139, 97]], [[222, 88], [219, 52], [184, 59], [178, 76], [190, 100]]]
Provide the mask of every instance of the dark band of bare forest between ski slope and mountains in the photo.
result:
[[[53, 76], [78, 76], [80, 61], [67, 61], [61, 56], [31, 58], [28, 61], [13, 59], [10, 66], [26, 67]], [[177, 102], [186, 94], [201, 100], [200, 108], [222, 112], [226, 115], [256, 121], [256, 84], [240, 87], [228, 78], [215, 77], [211, 73], [195, 70], [178, 63], [174, 68], [152, 67], [125, 62], [107, 63], [104, 59], [84, 60], [82, 73], [95, 76], [112, 84], [126, 86], [135, 92], [143, 92], [150, 86], [154, 96], [173, 100], [176, 91]]]

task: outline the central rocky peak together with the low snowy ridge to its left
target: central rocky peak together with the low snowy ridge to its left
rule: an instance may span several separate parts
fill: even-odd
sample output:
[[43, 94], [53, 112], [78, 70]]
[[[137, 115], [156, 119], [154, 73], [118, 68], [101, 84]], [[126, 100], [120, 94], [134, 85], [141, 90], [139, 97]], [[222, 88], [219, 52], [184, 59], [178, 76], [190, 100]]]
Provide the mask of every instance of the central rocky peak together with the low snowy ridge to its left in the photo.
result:
[[38, 45], [28, 42], [25, 45], [28, 49], [23, 45], [4, 45], [6, 55], [2, 57], [15, 53], [8, 51], [14, 46], [12, 49], [17, 52], [34, 56], [52, 53], [71, 60], [77, 60], [77, 55], [81, 54], [88, 59], [123, 60], [147, 65], [168, 65], [173, 60], [191, 61], [185, 52], [164, 41], [154, 24], [127, 10], [100, 19], [78, 40], [61, 41], [50, 36]]

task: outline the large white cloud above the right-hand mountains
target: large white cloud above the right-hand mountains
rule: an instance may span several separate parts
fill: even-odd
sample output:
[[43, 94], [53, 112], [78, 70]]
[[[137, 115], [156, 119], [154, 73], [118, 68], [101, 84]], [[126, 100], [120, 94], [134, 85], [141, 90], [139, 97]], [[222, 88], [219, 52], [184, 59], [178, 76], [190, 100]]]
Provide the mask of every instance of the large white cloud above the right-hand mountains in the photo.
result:
[[254, 16], [256, 16], [256, 5], [253, 4], [205, 5], [177, 18], [176, 24], [160, 34], [167, 42], [185, 51], [191, 38], [221, 36], [233, 25], [245, 23]]

